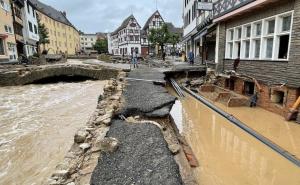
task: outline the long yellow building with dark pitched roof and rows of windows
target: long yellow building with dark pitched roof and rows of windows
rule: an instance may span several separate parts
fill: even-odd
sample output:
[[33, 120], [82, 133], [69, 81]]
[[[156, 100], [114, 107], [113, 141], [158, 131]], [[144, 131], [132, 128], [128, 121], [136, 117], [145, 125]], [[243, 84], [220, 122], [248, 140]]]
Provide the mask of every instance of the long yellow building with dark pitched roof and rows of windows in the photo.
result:
[[[44, 24], [49, 33], [49, 44], [45, 49], [50, 54], [65, 53], [74, 55], [80, 51], [79, 32], [67, 19], [66, 12], [61, 12], [38, 0], [30, 0], [38, 10], [40, 22]], [[43, 46], [40, 46], [43, 50]]]

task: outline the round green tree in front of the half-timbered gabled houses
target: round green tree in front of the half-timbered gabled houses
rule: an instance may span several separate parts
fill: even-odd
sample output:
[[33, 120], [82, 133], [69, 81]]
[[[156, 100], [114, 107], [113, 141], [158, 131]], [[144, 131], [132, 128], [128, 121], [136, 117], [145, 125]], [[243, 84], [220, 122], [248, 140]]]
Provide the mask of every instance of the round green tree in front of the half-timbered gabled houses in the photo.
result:
[[162, 25], [161, 28], [151, 29], [148, 35], [148, 40], [153, 46], [160, 46], [161, 54], [164, 53], [164, 46], [168, 43], [170, 38], [170, 32], [166, 24]]

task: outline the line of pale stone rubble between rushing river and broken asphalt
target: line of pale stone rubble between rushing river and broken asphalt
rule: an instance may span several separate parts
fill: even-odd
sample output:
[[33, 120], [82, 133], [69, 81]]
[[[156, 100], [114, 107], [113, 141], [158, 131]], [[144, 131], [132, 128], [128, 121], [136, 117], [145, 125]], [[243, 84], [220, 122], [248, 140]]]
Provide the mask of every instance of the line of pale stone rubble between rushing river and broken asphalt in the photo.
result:
[[90, 184], [92, 172], [97, 165], [101, 152], [113, 152], [119, 141], [107, 138], [114, 113], [121, 106], [125, 72], [120, 72], [118, 80], [111, 79], [99, 97], [97, 109], [84, 128], [74, 136], [74, 143], [64, 160], [56, 167], [46, 184], [76, 185]]

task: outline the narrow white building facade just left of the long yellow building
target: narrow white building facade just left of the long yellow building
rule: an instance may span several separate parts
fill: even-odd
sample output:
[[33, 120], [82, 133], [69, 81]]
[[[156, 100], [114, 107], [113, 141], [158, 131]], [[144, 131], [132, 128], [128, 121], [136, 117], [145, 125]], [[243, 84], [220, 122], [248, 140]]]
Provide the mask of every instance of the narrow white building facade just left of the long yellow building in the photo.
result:
[[39, 41], [37, 12], [29, 0], [24, 3], [24, 53], [27, 57], [37, 53], [37, 42]]

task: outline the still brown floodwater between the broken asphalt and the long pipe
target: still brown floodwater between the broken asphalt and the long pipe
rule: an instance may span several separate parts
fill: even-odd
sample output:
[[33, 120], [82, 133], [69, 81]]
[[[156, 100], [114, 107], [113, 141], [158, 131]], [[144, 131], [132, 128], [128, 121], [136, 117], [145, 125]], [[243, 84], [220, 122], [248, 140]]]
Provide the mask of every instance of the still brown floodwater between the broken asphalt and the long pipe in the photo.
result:
[[[200, 163], [193, 170], [198, 184], [300, 184], [299, 167], [195, 98], [187, 95], [177, 104], [181, 134]], [[272, 127], [271, 123], [268, 126]]]

